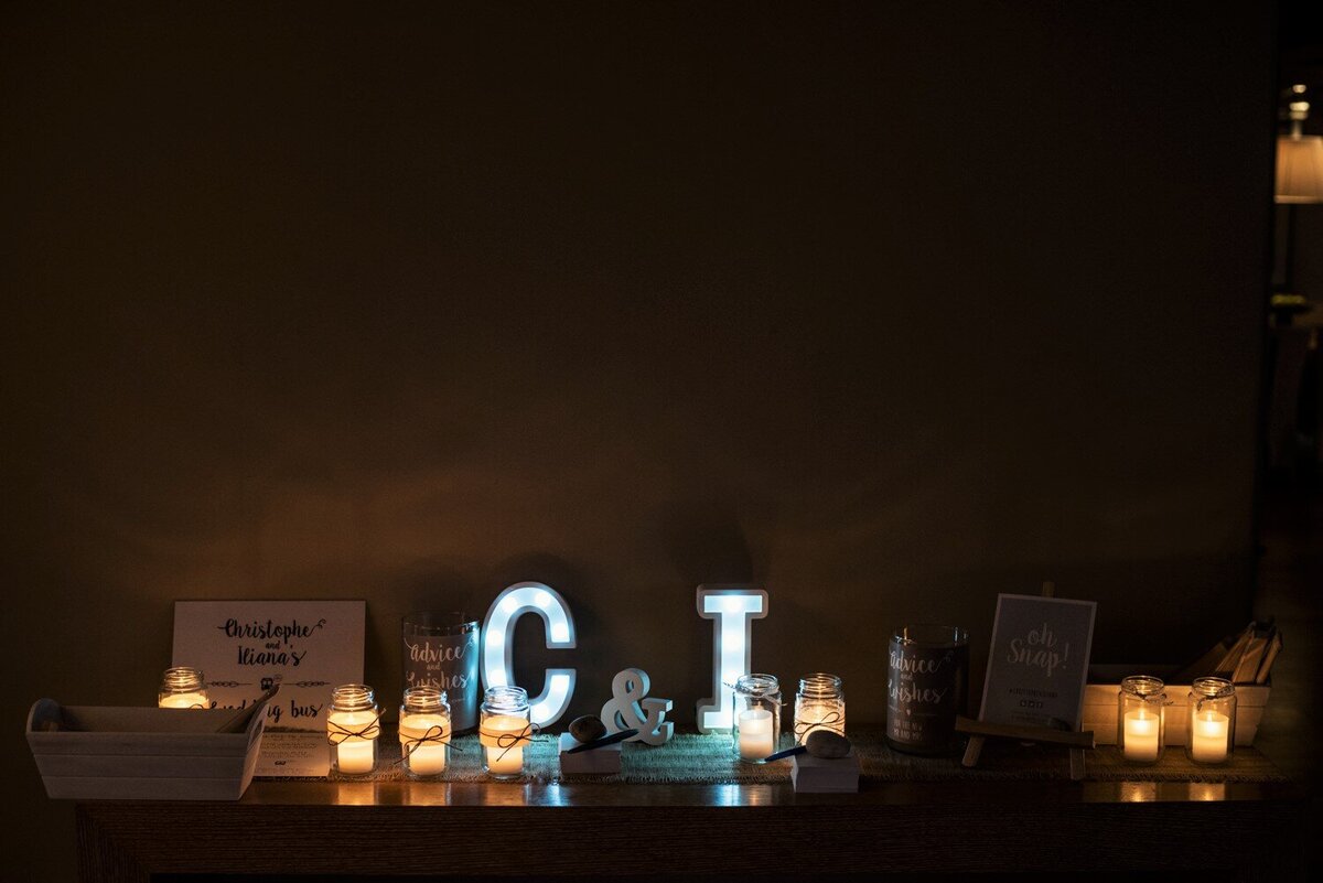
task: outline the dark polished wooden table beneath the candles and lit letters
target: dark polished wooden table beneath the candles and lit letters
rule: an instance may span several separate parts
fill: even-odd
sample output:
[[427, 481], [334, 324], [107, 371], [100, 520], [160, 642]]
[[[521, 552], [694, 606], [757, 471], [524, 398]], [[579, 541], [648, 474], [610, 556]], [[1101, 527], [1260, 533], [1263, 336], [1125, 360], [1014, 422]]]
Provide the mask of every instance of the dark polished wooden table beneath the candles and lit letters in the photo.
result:
[[781, 784], [255, 781], [233, 804], [82, 802], [78, 866], [85, 883], [1218, 866], [1293, 879], [1303, 808], [1286, 784], [906, 781], [795, 794]]

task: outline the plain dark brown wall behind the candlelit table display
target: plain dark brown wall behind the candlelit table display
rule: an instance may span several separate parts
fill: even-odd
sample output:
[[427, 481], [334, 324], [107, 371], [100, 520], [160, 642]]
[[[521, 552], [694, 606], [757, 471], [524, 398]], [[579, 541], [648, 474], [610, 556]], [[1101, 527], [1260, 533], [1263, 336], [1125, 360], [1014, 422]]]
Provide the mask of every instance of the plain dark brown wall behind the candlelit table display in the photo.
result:
[[572, 710], [681, 720], [700, 582], [859, 720], [893, 625], [982, 665], [1043, 579], [1095, 658], [1244, 625], [1258, 7], [7, 5], [17, 853], [73, 837], [28, 705], [148, 703], [176, 597], [365, 597], [389, 694], [401, 612], [540, 579]]

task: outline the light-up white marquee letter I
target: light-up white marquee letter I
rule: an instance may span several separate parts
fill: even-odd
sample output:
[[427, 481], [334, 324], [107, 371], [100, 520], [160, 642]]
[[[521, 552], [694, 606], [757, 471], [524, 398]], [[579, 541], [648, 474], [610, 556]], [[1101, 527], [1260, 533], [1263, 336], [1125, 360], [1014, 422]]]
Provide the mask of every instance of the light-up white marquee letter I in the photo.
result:
[[699, 616], [713, 620], [712, 699], [699, 699], [699, 732], [730, 730], [732, 687], [749, 674], [753, 620], [767, 615], [767, 592], [749, 586], [699, 586]]

